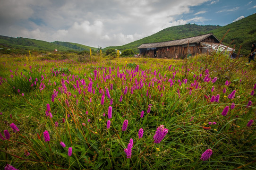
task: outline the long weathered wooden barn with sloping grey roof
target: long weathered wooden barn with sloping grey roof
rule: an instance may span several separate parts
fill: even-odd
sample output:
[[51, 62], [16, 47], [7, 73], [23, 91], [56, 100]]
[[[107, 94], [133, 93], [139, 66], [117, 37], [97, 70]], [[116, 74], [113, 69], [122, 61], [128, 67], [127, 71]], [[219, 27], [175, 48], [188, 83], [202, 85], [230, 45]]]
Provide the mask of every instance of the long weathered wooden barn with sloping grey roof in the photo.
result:
[[220, 41], [212, 34], [204, 34], [190, 38], [183, 38], [168, 42], [145, 43], [140, 45], [139, 53], [154, 58], [183, 59], [196, 53], [205, 53], [207, 50], [200, 42], [219, 44]]

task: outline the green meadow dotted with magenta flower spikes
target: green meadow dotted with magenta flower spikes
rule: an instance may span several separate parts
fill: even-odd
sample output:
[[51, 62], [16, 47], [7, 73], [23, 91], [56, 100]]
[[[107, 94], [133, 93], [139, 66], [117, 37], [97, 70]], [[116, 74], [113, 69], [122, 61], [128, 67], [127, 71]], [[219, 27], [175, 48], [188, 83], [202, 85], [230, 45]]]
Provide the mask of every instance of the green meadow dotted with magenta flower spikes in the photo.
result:
[[256, 66], [0, 57], [0, 168], [256, 169]]

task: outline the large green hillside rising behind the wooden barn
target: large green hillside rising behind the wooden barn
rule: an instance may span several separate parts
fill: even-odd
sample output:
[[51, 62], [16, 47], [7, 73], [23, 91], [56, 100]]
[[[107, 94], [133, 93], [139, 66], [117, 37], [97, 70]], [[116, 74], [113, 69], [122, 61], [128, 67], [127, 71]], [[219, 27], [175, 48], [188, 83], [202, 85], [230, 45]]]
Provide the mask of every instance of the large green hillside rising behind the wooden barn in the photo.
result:
[[241, 53], [247, 54], [251, 44], [255, 43], [256, 37], [256, 14], [245, 17], [239, 21], [231, 23], [227, 26], [198, 26], [196, 24], [186, 24], [183, 26], [172, 26], [162, 31], [122, 46], [106, 47], [104, 50], [114, 48], [119, 50], [132, 49], [138, 52], [137, 47], [143, 43], [163, 42], [177, 40], [201, 34], [213, 33], [218, 39], [222, 39], [223, 35], [230, 29], [229, 33], [224, 37], [223, 44], [233, 47], [236, 45], [236, 51], [242, 46]]

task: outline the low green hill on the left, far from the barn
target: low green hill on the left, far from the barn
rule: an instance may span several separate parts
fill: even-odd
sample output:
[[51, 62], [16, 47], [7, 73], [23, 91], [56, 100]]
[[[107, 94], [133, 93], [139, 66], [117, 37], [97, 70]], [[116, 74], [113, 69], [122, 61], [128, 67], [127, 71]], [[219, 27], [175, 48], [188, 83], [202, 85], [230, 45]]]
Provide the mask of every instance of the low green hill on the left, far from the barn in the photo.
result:
[[22, 38], [22, 37], [8, 37], [0, 35], [0, 48], [12, 48], [12, 49], [23, 49], [23, 50], [44, 50], [44, 51], [54, 51], [57, 49], [58, 51], [68, 51], [68, 50], [76, 50], [76, 51], [84, 51], [89, 50], [90, 48], [93, 50], [97, 50], [95, 47], [89, 47], [86, 45], [71, 43], [71, 42], [45, 42], [41, 40], [35, 40], [30, 38]]

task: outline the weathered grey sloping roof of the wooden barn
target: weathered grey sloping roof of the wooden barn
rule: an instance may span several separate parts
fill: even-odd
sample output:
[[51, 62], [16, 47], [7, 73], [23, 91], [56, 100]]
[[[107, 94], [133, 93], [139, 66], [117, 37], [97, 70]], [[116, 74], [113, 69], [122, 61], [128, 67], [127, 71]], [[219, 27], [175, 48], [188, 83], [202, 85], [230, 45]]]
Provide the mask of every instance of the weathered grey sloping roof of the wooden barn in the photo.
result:
[[208, 38], [210, 36], [213, 36], [218, 42], [220, 42], [213, 35], [213, 33], [210, 33], [210, 34], [204, 34], [204, 35], [199, 35], [199, 36], [194, 36], [194, 37], [189, 37], [189, 38], [183, 38], [183, 39], [173, 40], [173, 41], [167, 41], [167, 42], [145, 43], [145, 44], [141, 44], [138, 47], [138, 49], [169, 47], [169, 46], [174, 46], [174, 45], [184, 45], [184, 44], [188, 44], [188, 42], [189, 43], [199, 43], [199, 42], [203, 41], [205, 38]]

